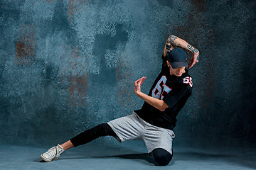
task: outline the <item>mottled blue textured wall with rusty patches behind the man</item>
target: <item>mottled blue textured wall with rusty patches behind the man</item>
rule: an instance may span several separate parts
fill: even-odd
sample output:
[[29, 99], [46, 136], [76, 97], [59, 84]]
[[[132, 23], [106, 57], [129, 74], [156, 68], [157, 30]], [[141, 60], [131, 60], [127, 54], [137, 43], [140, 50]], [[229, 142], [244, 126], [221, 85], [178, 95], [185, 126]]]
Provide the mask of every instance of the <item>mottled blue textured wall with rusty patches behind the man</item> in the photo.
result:
[[1, 0], [0, 6], [1, 142], [66, 140], [140, 108], [133, 82], [147, 77], [148, 93], [170, 34], [201, 51], [177, 138], [255, 141], [254, 1]]

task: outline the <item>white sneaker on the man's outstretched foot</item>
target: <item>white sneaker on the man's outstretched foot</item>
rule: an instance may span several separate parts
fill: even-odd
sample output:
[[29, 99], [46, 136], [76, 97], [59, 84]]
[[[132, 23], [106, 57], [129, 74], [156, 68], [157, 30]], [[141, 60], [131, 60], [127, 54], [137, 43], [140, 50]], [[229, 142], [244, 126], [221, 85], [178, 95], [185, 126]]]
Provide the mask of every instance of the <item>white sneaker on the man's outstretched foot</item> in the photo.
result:
[[45, 162], [51, 162], [53, 159], [58, 159], [62, 152], [64, 152], [63, 147], [57, 145], [56, 147], [52, 147], [48, 149], [47, 152], [41, 154], [41, 159], [43, 159]]

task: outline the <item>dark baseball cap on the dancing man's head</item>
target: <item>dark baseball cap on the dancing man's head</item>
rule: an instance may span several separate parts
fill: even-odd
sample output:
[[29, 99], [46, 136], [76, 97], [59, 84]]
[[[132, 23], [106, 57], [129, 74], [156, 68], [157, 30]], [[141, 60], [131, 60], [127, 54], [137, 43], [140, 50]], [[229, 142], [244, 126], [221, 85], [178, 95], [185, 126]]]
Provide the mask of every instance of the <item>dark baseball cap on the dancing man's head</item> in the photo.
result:
[[186, 54], [183, 50], [179, 48], [174, 48], [174, 50], [171, 50], [171, 52], [169, 52], [167, 60], [170, 62], [173, 69], [176, 69], [178, 67], [188, 67]]

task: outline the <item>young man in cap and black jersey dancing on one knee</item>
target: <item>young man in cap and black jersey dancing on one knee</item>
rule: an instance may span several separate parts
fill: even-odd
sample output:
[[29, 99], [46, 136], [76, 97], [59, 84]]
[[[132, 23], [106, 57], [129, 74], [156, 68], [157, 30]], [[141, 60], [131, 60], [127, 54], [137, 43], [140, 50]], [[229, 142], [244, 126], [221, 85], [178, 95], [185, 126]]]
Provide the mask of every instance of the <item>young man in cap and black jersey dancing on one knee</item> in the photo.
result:
[[199, 51], [196, 48], [185, 40], [170, 35], [162, 55], [161, 72], [151, 86], [149, 94], [141, 91], [146, 77], [134, 82], [134, 93], [145, 101], [140, 110], [85, 130], [62, 145], [48, 149], [41, 154], [41, 159], [50, 162], [58, 159], [66, 149], [84, 145], [97, 137], [112, 136], [119, 142], [143, 140], [157, 164], [169, 164], [173, 155], [172, 140], [175, 136], [176, 116], [191, 96], [193, 87], [192, 78], [186, 69], [186, 54], [176, 47], [193, 53], [189, 68], [198, 62]]

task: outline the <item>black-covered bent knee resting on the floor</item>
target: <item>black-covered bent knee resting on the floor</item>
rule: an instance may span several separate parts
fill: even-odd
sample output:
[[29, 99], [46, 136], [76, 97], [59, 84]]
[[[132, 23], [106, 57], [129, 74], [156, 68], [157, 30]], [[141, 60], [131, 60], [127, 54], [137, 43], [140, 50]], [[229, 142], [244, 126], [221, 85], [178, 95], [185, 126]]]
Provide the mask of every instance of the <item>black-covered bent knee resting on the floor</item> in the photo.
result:
[[157, 165], [159, 166], [166, 166], [171, 162], [172, 154], [167, 152], [165, 149], [162, 149], [162, 148], [154, 149], [152, 154]]

